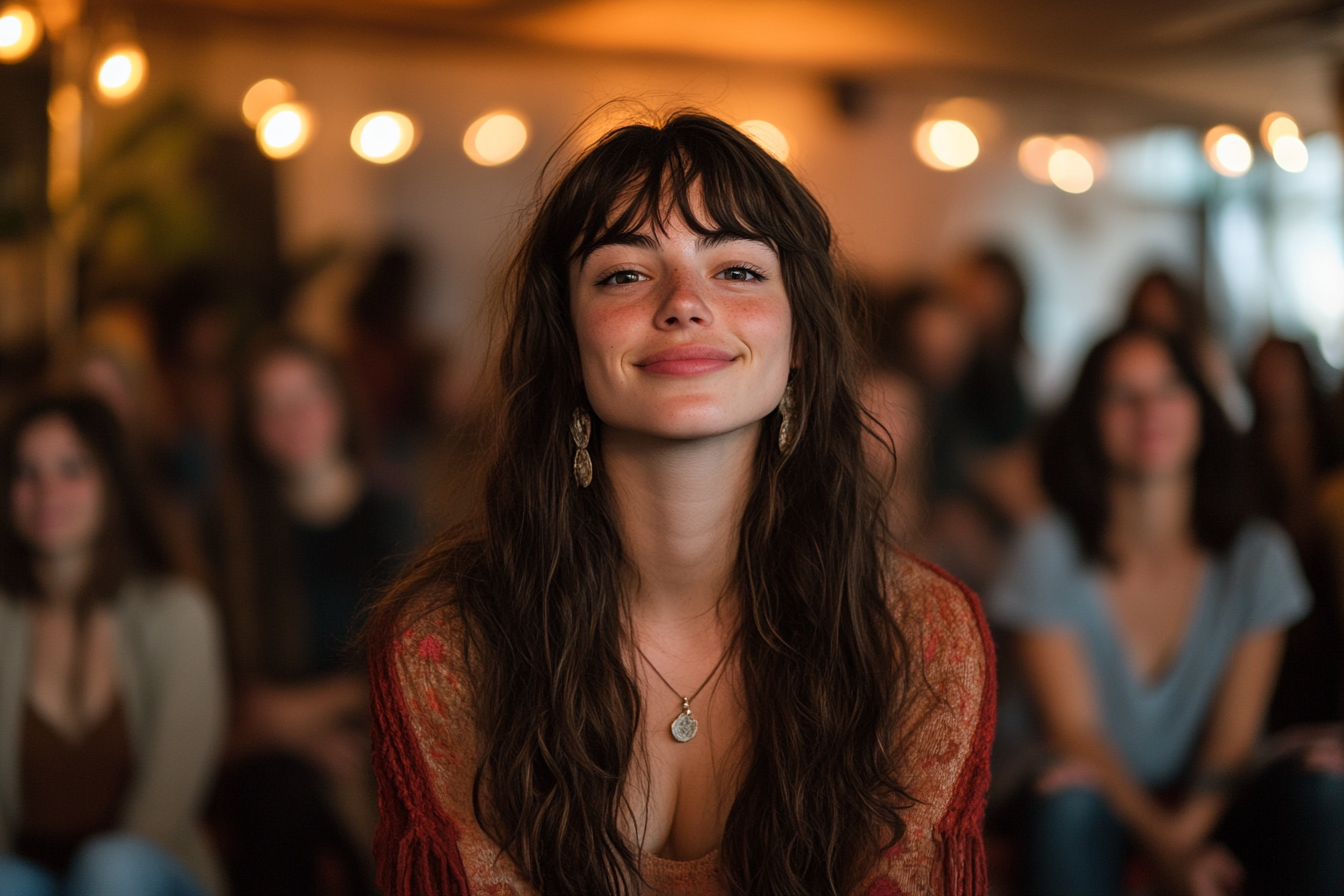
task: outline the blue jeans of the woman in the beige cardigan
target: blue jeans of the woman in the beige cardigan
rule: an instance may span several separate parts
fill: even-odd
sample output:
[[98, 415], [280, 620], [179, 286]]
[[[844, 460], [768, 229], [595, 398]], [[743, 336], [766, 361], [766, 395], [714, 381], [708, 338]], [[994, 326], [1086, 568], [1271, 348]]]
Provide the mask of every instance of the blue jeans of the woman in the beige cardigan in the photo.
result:
[[176, 858], [132, 834], [93, 837], [65, 879], [16, 856], [0, 856], [4, 896], [204, 896]]

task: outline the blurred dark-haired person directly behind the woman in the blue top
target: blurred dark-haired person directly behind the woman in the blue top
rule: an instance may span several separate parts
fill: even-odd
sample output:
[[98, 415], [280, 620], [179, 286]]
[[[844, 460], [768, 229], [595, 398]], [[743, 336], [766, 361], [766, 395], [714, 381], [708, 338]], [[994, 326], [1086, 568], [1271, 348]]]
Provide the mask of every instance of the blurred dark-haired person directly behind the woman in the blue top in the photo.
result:
[[1210, 391], [1227, 419], [1245, 433], [1251, 424], [1251, 400], [1236, 367], [1215, 337], [1204, 297], [1171, 271], [1156, 269], [1138, 278], [1125, 312], [1125, 326], [1146, 326], [1187, 344]]

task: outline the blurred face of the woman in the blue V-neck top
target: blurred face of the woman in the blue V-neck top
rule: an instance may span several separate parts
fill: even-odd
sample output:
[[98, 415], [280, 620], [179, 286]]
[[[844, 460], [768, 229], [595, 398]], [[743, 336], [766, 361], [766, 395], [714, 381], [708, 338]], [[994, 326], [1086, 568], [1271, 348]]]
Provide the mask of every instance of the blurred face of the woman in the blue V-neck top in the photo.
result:
[[1156, 340], [1136, 337], [1114, 348], [1097, 422], [1102, 451], [1121, 476], [1167, 477], [1195, 462], [1199, 398]]

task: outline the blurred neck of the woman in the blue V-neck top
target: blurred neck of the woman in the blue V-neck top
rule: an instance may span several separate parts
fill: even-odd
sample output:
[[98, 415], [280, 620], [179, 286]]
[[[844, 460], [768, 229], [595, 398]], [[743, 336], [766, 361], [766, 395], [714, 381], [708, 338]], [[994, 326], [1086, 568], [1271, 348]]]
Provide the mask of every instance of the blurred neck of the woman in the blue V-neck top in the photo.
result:
[[1113, 478], [1106, 545], [1124, 563], [1134, 556], [1160, 556], [1195, 547], [1191, 474]]

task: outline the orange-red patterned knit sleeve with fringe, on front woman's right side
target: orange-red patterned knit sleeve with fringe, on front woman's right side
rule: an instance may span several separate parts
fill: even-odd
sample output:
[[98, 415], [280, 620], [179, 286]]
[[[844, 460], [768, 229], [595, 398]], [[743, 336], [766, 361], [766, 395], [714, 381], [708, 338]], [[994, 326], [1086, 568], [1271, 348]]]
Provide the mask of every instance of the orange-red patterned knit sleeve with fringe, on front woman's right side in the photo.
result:
[[867, 896], [984, 896], [982, 823], [995, 736], [995, 653], [980, 599], [900, 555], [892, 610], [913, 662], [900, 780], [915, 805]]

